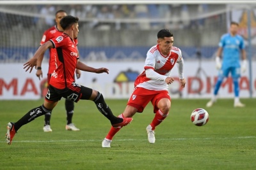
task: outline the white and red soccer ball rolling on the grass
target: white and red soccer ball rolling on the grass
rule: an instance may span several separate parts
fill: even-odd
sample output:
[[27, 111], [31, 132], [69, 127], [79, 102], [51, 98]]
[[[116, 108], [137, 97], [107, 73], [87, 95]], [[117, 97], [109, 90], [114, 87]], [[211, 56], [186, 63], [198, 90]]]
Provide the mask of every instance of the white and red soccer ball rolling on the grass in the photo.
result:
[[209, 114], [206, 110], [202, 108], [197, 108], [194, 111], [192, 111], [190, 118], [191, 118], [191, 122], [194, 125], [202, 126], [207, 124], [209, 120]]

